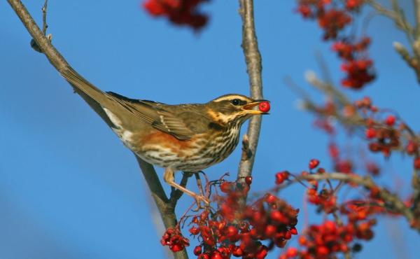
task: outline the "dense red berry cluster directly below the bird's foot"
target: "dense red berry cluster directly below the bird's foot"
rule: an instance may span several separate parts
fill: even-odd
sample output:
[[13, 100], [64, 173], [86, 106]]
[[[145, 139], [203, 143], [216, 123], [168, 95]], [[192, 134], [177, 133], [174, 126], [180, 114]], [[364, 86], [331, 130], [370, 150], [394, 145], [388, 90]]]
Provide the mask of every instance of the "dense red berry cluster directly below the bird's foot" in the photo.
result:
[[[287, 176], [281, 174], [281, 178]], [[193, 250], [197, 258], [226, 259], [233, 255], [262, 259], [272, 248], [284, 247], [292, 235], [297, 235], [299, 210], [271, 193], [246, 204], [249, 184], [250, 178], [246, 183], [222, 180], [219, 189], [224, 195], [216, 195], [217, 209], [206, 208], [190, 217], [189, 232], [200, 242]], [[167, 230], [162, 237], [162, 244], [172, 251], [188, 246], [188, 239], [177, 230]]]

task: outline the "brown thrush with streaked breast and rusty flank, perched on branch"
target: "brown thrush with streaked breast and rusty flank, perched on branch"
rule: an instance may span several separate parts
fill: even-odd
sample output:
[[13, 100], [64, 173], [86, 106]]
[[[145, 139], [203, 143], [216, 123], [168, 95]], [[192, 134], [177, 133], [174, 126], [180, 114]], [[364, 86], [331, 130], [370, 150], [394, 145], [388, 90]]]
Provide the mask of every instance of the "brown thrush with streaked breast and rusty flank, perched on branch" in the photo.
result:
[[176, 183], [174, 173], [202, 172], [225, 160], [239, 142], [241, 125], [251, 116], [267, 114], [254, 109], [267, 100], [242, 94], [224, 94], [204, 104], [169, 105], [103, 92], [70, 66], [59, 72], [76, 92], [99, 104], [103, 118], [127, 148], [165, 168], [164, 181], [197, 204], [209, 201]]

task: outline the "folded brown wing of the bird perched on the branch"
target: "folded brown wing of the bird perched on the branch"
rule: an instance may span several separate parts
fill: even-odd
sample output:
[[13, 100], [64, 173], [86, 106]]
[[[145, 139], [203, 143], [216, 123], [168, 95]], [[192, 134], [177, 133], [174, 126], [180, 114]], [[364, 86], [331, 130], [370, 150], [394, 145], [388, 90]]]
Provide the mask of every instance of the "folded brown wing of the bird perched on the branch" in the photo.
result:
[[209, 120], [194, 111], [179, 112], [177, 109], [168, 111], [165, 109], [166, 104], [130, 99], [114, 92], [107, 93], [134, 116], [146, 123], [150, 123], [162, 132], [171, 134], [176, 139], [187, 140], [197, 133], [204, 132], [204, 127], [197, 127], [197, 125], [203, 124], [197, 122], [199, 120]]

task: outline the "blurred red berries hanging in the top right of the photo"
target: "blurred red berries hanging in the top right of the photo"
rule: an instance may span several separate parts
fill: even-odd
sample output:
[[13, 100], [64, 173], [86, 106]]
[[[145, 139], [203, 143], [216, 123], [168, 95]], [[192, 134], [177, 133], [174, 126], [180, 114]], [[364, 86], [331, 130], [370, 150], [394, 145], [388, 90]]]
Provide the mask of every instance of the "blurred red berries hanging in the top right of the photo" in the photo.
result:
[[352, 22], [351, 13], [358, 11], [362, 4], [362, 0], [347, 0], [339, 8], [338, 3], [331, 0], [300, 0], [297, 7], [297, 12], [304, 18], [318, 21], [319, 27], [324, 31], [324, 40], [335, 41], [332, 50], [343, 60], [341, 69], [346, 73], [342, 85], [352, 89], [362, 88], [375, 77], [372, 71], [373, 62], [366, 57], [365, 51], [370, 38], [364, 37], [357, 42], [353, 37], [339, 35]]

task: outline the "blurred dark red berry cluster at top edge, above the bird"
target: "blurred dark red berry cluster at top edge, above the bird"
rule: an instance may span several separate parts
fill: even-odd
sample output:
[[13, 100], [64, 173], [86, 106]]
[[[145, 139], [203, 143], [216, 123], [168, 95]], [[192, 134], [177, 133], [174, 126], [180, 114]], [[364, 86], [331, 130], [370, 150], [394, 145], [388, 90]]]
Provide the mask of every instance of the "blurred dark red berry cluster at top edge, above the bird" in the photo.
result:
[[166, 16], [175, 25], [187, 25], [201, 29], [207, 24], [208, 17], [197, 8], [207, 0], [146, 0], [144, 9], [155, 17]]

